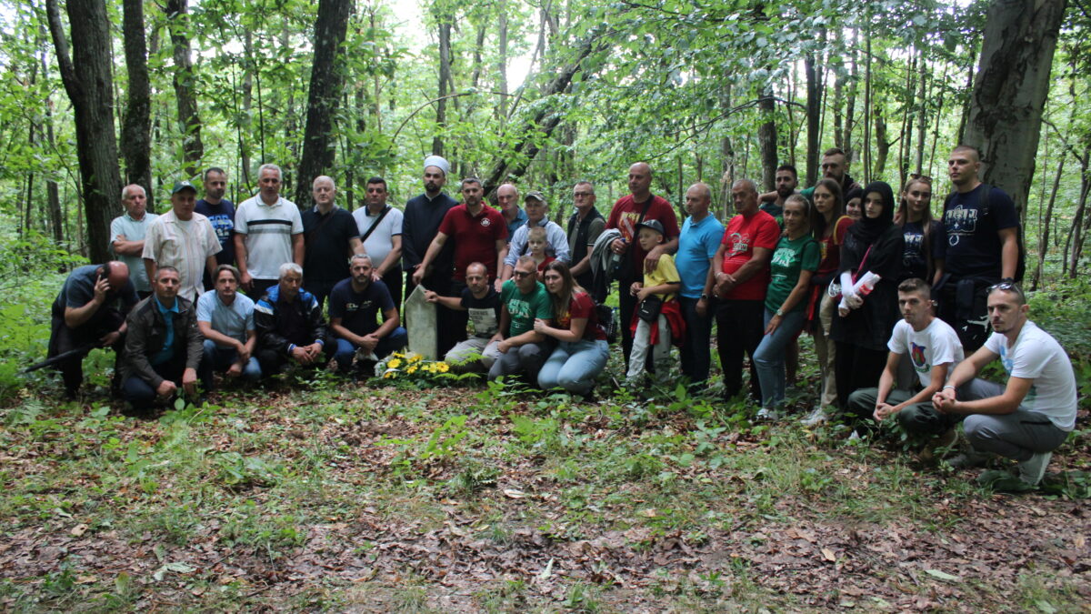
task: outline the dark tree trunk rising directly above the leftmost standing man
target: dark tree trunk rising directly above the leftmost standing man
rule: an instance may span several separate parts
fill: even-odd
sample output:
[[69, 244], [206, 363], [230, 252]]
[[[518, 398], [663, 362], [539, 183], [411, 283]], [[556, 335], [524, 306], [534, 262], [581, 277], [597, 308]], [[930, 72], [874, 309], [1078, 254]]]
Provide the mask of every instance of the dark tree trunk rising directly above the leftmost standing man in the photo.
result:
[[125, 70], [129, 73], [129, 104], [121, 126], [121, 155], [125, 160], [124, 180], [147, 190], [148, 209], [155, 211], [152, 189], [152, 85], [147, 76], [147, 45], [144, 39], [143, 0], [123, 0]]

